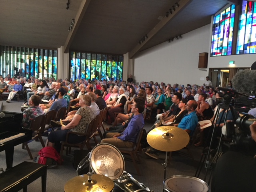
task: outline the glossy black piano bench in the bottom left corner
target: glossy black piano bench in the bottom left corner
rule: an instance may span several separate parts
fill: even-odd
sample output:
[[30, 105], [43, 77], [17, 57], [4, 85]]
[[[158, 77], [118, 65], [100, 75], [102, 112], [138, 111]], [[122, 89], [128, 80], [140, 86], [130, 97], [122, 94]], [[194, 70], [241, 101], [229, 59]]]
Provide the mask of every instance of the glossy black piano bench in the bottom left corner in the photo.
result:
[[46, 168], [46, 165], [26, 161], [10, 168], [0, 174], [0, 192], [17, 192], [22, 188], [26, 192], [28, 184], [39, 177], [42, 180], [42, 192], [46, 192]]

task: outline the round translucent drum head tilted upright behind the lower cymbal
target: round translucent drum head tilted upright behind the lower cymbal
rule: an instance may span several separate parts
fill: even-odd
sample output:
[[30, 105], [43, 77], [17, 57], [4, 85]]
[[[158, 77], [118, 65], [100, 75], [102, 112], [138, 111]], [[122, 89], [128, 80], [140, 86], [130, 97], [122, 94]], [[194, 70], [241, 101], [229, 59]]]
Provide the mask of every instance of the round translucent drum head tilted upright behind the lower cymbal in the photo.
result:
[[91, 166], [96, 174], [116, 180], [124, 172], [124, 158], [113, 145], [98, 144], [90, 153]]

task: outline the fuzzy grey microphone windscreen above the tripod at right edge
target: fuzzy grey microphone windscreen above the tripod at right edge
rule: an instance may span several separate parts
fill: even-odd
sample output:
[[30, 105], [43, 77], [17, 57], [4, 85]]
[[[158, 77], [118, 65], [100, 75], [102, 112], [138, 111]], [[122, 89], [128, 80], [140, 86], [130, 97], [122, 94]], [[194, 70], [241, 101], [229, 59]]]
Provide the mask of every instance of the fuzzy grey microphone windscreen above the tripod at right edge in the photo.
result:
[[232, 78], [233, 88], [243, 94], [255, 94], [256, 91], [256, 70], [242, 70]]

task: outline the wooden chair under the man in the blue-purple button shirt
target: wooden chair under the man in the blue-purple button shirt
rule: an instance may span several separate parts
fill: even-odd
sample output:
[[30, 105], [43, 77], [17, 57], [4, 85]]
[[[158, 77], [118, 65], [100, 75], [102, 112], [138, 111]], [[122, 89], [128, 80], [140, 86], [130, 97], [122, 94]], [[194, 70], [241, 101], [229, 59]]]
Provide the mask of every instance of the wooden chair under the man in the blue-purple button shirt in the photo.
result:
[[137, 156], [138, 162], [140, 162], [140, 158], [138, 155], [138, 150], [140, 148], [140, 140], [142, 138], [143, 135], [143, 128], [140, 130], [140, 132], [138, 133], [138, 136], [136, 138], [136, 145], [133, 148], [118, 148], [120, 150], [120, 152], [123, 154], [129, 154], [132, 158], [134, 167], [138, 173], [138, 175], [140, 175], [140, 170], [137, 166], [136, 160], [135, 160], [135, 156]]

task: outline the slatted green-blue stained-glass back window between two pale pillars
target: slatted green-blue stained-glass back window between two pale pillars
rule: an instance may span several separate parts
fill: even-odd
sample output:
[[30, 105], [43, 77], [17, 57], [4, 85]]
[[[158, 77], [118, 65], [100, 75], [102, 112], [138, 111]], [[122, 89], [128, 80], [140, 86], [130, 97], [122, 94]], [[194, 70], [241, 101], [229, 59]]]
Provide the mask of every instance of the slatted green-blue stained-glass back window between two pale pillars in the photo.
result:
[[73, 80], [122, 80], [123, 55], [71, 52], [70, 58]]

